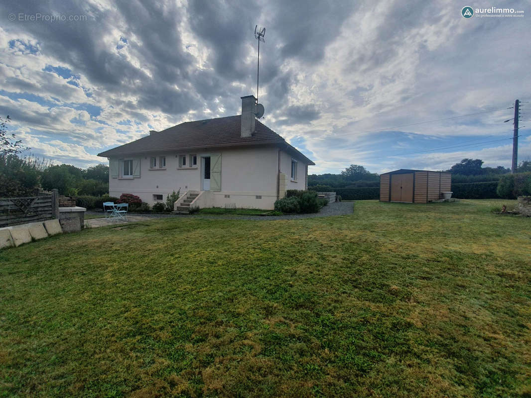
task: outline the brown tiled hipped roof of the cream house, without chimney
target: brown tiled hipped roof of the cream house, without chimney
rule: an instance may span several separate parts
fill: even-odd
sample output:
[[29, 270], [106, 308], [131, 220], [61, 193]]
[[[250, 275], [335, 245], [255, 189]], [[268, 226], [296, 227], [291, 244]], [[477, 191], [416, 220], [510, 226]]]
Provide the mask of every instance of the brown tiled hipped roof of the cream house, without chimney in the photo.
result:
[[147, 152], [275, 144], [285, 147], [289, 152], [295, 151], [310, 165], [315, 164], [258, 120], [256, 120], [254, 135], [243, 138], [241, 136], [241, 120], [242, 116], [237, 115], [181, 123], [139, 140], [98, 153], [98, 156], [110, 157]]

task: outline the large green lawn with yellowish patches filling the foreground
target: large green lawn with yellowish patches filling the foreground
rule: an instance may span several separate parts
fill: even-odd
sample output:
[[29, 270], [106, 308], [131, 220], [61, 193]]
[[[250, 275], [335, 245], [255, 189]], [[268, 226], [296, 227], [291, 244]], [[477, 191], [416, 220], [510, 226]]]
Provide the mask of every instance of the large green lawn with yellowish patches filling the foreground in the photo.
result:
[[168, 218], [0, 252], [0, 396], [531, 396], [511, 201]]

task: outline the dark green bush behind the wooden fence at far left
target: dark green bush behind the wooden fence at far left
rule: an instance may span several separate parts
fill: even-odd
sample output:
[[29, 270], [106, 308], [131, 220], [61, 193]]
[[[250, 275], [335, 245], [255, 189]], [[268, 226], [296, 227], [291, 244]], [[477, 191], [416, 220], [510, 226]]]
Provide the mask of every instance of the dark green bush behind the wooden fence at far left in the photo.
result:
[[39, 188], [35, 162], [15, 154], [0, 155], [0, 197], [34, 196]]

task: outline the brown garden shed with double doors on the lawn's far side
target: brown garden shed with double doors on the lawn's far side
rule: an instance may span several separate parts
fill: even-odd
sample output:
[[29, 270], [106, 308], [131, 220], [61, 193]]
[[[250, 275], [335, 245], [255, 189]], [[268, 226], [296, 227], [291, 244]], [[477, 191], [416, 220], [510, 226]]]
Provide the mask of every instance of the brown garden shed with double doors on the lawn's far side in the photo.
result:
[[444, 171], [400, 169], [380, 175], [380, 202], [428, 203], [449, 192], [452, 176]]

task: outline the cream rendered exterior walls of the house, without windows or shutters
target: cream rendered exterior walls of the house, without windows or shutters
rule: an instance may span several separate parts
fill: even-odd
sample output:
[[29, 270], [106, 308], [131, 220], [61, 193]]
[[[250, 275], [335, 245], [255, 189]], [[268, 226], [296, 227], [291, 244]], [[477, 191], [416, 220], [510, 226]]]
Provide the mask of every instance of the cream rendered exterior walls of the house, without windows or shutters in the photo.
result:
[[[278, 148], [274, 146], [248, 149], [212, 150], [210, 152], [156, 153], [119, 157], [119, 159], [140, 159], [140, 178], [118, 178], [109, 174], [109, 194], [119, 197], [123, 193], [138, 195], [143, 202], [155, 203], [153, 194], [166, 196], [181, 188], [185, 191], [202, 190], [201, 156], [221, 154], [221, 191], [211, 191], [209, 195], [212, 206], [224, 207], [226, 203], [235, 203], [237, 207], [255, 209], [273, 209], [277, 200]], [[196, 154], [198, 167], [178, 168], [178, 154]], [[166, 156], [166, 169], [151, 170], [150, 158]], [[112, 158], [115, 160], [118, 158]], [[288, 176], [291, 167], [289, 157]], [[304, 177], [304, 167], [299, 169], [299, 176]], [[300, 177], [299, 177], [300, 178]], [[300, 185], [299, 185], [300, 186]], [[304, 179], [302, 188], [304, 189]], [[225, 197], [229, 195], [229, 197]], [[261, 198], [256, 198], [261, 196]]]

